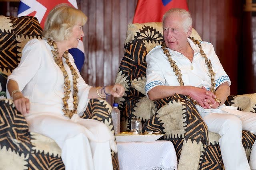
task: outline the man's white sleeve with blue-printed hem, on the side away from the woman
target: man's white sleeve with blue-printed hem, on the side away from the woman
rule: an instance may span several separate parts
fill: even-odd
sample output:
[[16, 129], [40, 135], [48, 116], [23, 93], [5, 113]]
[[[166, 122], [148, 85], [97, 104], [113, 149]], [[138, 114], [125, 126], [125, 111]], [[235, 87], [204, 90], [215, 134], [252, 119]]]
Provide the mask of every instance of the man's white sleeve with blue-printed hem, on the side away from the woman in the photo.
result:
[[222, 64], [220, 64], [220, 60], [216, 55], [212, 44], [210, 44], [210, 49], [208, 53], [206, 53], [206, 56], [209, 56], [209, 59], [211, 60], [211, 63], [212, 63], [212, 69], [215, 72], [214, 79], [216, 83], [216, 88], [224, 82], [228, 82], [228, 84], [231, 85], [230, 78], [228, 77], [228, 74], [225, 72], [224, 68], [222, 67]]

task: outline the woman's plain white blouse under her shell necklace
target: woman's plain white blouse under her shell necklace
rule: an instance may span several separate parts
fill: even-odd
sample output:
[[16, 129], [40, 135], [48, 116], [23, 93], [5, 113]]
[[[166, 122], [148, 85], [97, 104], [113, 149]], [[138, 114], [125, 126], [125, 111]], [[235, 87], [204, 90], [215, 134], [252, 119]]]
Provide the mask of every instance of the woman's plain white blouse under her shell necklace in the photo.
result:
[[[20, 64], [15, 68], [8, 80], [12, 79], [18, 83], [19, 90], [30, 100], [30, 114], [32, 113], [57, 113], [64, 114], [64, 76], [59, 66], [55, 63], [52, 55], [52, 47], [45, 39], [32, 39], [28, 41], [22, 50]], [[76, 68], [72, 55], [68, 55], [72, 66]], [[63, 58], [63, 64], [68, 72], [71, 84], [70, 98], [68, 99], [69, 109], [73, 109], [73, 80], [70, 68]], [[88, 104], [88, 86], [79, 71], [78, 73], [78, 109], [77, 113], [82, 114]], [[7, 81], [8, 81], [7, 80]], [[10, 94], [7, 90], [7, 98]]]

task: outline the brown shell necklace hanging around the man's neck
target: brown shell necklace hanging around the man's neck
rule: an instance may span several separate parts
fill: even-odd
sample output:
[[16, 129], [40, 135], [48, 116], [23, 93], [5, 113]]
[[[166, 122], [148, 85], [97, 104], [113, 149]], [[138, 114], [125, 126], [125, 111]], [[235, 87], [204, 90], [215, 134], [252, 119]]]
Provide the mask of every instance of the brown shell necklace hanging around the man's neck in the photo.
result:
[[[193, 41], [193, 43], [195, 45], [198, 45], [198, 47], [200, 49], [200, 55], [202, 55], [202, 57], [204, 57], [204, 59], [205, 59], [204, 63], [206, 63], [206, 65], [208, 67], [208, 70], [209, 70], [209, 73], [211, 75], [211, 83], [212, 84], [211, 84], [210, 90], [211, 90], [211, 92], [214, 93], [216, 83], [214, 81], [215, 72], [213, 72], [213, 70], [212, 70], [211, 60], [209, 60], [207, 58], [206, 54], [204, 53], [201, 43], [198, 40], [194, 39], [194, 37], [189, 37], [189, 38]], [[178, 79], [178, 82], [180, 83], [180, 86], [184, 86], [184, 82], [182, 80], [182, 74], [180, 72], [180, 68], [178, 68], [178, 66], [176, 65], [176, 62], [172, 59], [172, 56], [171, 56], [169, 50], [167, 49], [167, 46], [166, 46], [165, 42], [162, 42], [161, 46], [162, 46], [162, 49], [164, 50], [164, 54], [166, 55], [166, 57], [168, 57], [168, 61], [170, 62], [171, 67], [172, 67], [175, 75], [178, 76], [177, 79]]]

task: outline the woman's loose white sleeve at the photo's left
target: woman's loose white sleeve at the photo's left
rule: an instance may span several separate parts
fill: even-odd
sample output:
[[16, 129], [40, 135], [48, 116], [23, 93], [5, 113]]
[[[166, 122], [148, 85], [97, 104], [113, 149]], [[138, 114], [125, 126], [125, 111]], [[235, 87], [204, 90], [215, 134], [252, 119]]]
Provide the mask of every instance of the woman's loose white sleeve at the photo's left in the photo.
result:
[[[18, 83], [19, 90], [22, 91], [26, 84], [34, 77], [40, 68], [42, 60], [42, 47], [38, 39], [32, 39], [24, 46], [20, 64], [8, 76], [7, 82], [15, 80]], [[7, 84], [7, 83], [6, 83]], [[7, 97], [10, 98], [8, 90]]]

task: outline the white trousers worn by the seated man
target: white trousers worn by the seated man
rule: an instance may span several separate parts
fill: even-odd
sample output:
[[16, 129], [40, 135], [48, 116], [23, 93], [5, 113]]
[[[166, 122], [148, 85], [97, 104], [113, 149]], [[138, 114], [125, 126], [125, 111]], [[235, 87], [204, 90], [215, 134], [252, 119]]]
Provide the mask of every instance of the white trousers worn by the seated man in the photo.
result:
[[208, 113], [202, 116], [208, 130], [221, 136], [220, 151], [226, 170], [256, 169], [255, 143], [249, 163], [242, 145], [243, 129], [256, 134], [256, 113], [240, 111], [240, 115]]

